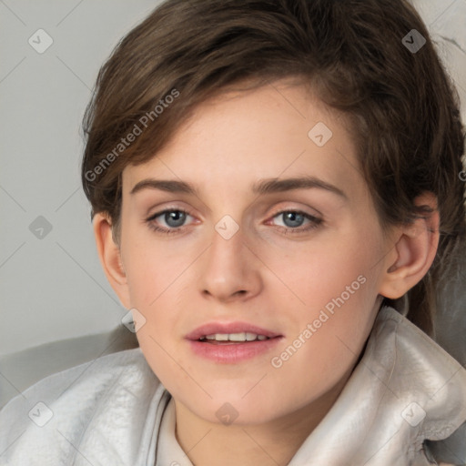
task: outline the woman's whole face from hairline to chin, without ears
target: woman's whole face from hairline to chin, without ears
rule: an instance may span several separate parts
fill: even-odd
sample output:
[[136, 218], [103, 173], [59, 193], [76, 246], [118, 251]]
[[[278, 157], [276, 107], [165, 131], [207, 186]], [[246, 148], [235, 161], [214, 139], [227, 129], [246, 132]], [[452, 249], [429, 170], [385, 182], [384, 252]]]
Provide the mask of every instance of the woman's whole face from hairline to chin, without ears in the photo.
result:
[[209, 100], [125, 169], [120, 248], [159, 380], [203, 420], [251, 424], [348, 377], [388, 244], [342, 120], [281, 82]]

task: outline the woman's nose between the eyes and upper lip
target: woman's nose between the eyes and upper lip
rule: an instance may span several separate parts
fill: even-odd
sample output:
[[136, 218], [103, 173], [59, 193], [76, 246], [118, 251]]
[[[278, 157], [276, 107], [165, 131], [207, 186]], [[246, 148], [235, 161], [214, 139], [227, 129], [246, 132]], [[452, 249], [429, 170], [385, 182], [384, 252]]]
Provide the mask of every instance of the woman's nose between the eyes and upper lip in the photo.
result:
[[248, 300], [262, 288], [260, 261], [246, 244], [241, 229], [229, 239], [214, 231], [198, 272], [199, 289], [207, 299], [223, 303]]

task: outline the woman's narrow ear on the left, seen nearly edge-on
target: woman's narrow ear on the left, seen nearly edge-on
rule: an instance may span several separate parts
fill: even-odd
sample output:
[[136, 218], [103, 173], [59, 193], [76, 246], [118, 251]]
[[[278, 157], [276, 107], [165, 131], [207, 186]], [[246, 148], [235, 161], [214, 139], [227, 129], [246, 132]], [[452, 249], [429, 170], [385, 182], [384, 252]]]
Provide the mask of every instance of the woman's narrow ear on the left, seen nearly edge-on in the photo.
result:
[[121, 251], [112, 235], [112, 224], [105, 214], [96, 214], [93, 219], [94, 237], [98, 257], [106, 274], [106, 279], [117, 293], [121, 304], [130, 309], [127, 274], [121, 260]]

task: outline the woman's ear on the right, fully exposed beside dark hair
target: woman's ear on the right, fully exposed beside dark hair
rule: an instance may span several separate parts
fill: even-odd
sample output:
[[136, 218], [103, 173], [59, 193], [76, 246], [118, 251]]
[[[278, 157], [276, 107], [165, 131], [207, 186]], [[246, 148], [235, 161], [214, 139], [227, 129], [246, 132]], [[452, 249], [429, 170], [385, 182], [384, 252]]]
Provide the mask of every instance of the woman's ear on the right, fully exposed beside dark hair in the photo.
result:
[[428, 206], [433, 212], [395, 228], [395, 246], [387, 255], [379, 291], [385, 298], [398, 299], [420, 282], [437, 253], [440, 226], [437, 198], [424, 193], [415, 199], [415, 204]]

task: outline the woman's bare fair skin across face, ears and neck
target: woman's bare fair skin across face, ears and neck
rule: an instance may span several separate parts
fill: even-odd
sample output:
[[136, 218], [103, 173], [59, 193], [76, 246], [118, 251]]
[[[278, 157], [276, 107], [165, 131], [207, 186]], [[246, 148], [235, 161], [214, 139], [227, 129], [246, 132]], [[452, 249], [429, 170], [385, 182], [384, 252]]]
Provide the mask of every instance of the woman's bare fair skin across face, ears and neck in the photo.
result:
[[[333, 133], [323, 147], [308, 137], [318, 122]], [[381, 297], [399, 298], [430, 268], [438, 213], [382, 231], [357, 167], [343, 120], [304, 87], [283, 81], [211, 98], [157, 157], [126, 167], [119, 244], [111, 219], [96, 215], [106, 277], [123, 305], [146, 319], [137, 339], [175, 400], [177, 441], [193, 464], [287, 464], [338, 398]], [[259, 179], [303, 175], [345, 197], [319, 187], [251, 191]], [[147, 178], [183, 180], [198, 195], [150, 187], [131, 194]], [[429, 193], [417, 202], [435, 208]], [[189, 214], [184, 229], [170, 235], [150, 228], [177, 229], [164, 215], [147, 222], [168, 208]], [[279, 212], [296, 210], [319, 225], [291, 232]], [[239, 227], [229, 239], [215, 229], [226, 215]], [[309, 224], [304, 218], [294, 228]], [[359, 276], [366, 278], [360, 289], [274, 368], [271, 358]], [[184, 338], [206, 322], [238, 320], [283, 338], [276, 349], [238, 364], [204, 360]], [[226, 402], [238, 411], [230, 425], [216, 416]]]

